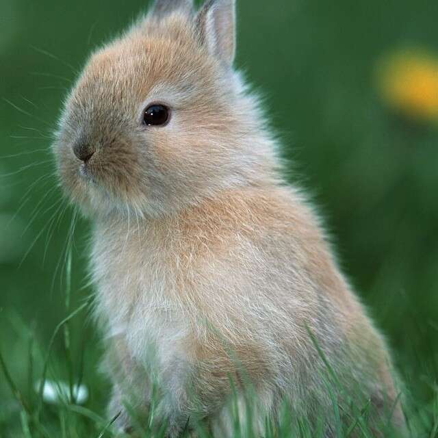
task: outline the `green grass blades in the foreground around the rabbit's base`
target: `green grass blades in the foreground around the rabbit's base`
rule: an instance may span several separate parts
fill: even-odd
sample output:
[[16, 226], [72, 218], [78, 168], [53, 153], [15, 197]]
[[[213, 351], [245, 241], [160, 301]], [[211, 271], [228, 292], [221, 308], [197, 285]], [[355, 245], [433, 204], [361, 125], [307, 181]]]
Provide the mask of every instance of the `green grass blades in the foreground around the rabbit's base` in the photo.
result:
[[[67, 264], [68, 269], [68, 264]], [[68, 285], [68, 281], [66, 284]], [[34, 332], [26, 326], [21, 320], [16, 320], [15, 324], [19, 326], [23, 339], [21, 346], [27, 347], [27, 375], [25, 381], [27, 385], [18, 385], [14, 378], [14, 368], [8, 364], [7, 357], [0, 354], [0, 370], [5, 377], [5, 383], [10, 389], [12, 400], [9, 404], [3, 403], [3, 411], [0, 415], [1, 437], [35, 437], [35, 438], [73, 438], [73, 437], [121, 437], [123, 434], [117, 433], [112, 424], [117, 418], [107, 418], [104, 413], [104, 407], [107, 403], [109, 394], [108, 382], [97, 372], [96, 360], [99, 352], [94, 346], [90, 350], [90, 345], [86, 342], [78, 344], [79, 350], [72, 348], [72, 341], [75, 337], [81, 337], [81, 330], [70, 331], [70, 323], [78, 318], [81, 313], [86, 313], [90, 309], [89, 303], [72, 311], [59, 324], [57, 324], [47, 348], [41, 350], [38, 341], [34, 337]], [[313, 342], [315, 338], [309, 333]], [[59, 338], [59, 339], [58, 339]], [[53, 351], [55, 342], [60, 340], [62, 343], [62, 352]], [[331, 437], [374, 437], [372, 430], [368, 426], [367, 419], [371, 415], [370, 400], [366, 397], [355, 398], [353, 388], [339, 387], [339, 381], [333, 369], [323, 356], [323, 353], [315, 344], [324, 363], [326, 363], [326, 375], [321, 376], [322, 390], [324, 387], [332, 400], [332, 408], [329, 411], [319, 412], [316, 415], [318, 419], [315, 423], [310, 422], [305, 417], [296, 417], [294, 412], [285, 403], [281, 409], [280, 420], [278, 424], [272, 424], [267, 418], [264, 419], [264, 427], [261, 435], [255, 433], [250, 426], [253, 424], [255, 417], [255, 398], [248, 385], [245, 392], [246, 403], [240, 404], [237, 389], [231, 385], [231, 396], [227, 407], [229, 409], [233, 437], [239, 438], [281, 438], [281, 437], [299, 437], [299, 438], [326, 438], [324, 435], [324, 421], [333, 426]], [[90, 351], [90, 355], [87, 354]], [[84, 361], [84, 357], [87, 360]], [[84, 372], [84, 363], [91, 362], [92, 367], [88, 366]], [[52, 382], [66, 381], [70, 387], [67, 394], [63, 393], [57, 402], [48, 403], [43, 396], [44, 381], [48, 376]], [[79, 405], [75, 400], [73, 391], [74, 385], [86, 383], [90, 391], [90, 399], [84, 405]], [[157, 394], [157, 391], [153, 391]], [[339, 394], [342, 394], [344, 403], [339, 404]], [[351, 396], [350, 396], [351, 395]], [[409, 434], [412, 438], [428, 437], [434, 438], [438, 435], [438, 398], [435, 398], [433, 404], [426, 406], [418, 404], [407, 393], [400, 394], [404, 400], [404, 412], [407, 417]], [[155, 408], [159, 404], [158, 398], [153, 398], [149, 417], [141, 417], [129, 405], [127, 410], [131, 413], [133, 432], [136, 437], [144, 438], [164, 438], [166, 424], [160, 427], [151, 428], [148, 425], [153, 424]], [[5, 409], [7, 408], [7, 409]], [[384, 437], [400, 437], [394, 429], [391, 428], [389, 418], [391, 412], [386, 413], [383, 417], [378, 430], [381, 430]], [[209, 438], [211, 433], [208, 427], [199, 422], [195, 426], [196, 436], [200, 438]], [[187, 432], [183, 436], [190, 436]]]

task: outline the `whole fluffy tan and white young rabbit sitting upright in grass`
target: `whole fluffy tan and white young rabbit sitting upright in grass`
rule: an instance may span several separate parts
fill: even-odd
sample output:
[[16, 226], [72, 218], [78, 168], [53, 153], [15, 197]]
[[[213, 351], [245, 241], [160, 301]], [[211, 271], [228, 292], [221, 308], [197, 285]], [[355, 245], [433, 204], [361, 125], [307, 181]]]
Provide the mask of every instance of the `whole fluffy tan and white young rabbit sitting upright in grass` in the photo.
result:
[[402, 428], [385, 339], [313, 206], [285, 183], [235, 45], [234, 0], [155, 0], [66, 99], [53, 151], [92, 222], [109, 418], [131, 430], [131, 407], [168, 437], [197, 422], [231, 436], [229, 400], [242, 408], [250, 393], [257, 433], [286, 401], [309, 424], [324, 415], [330, 437], [333, 394], [342, 407], [360, 387], [372, 421], [388, 410]]

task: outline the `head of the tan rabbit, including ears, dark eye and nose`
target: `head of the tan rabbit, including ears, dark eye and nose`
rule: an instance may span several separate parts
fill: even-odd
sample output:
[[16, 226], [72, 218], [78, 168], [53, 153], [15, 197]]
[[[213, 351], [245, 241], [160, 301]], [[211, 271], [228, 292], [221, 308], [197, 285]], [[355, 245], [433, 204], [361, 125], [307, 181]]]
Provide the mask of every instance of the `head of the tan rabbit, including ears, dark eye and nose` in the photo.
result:
[[257, 99], [233, 69], [235, 4], [157, 0], [96, 51], [68, 96], [53, 149], [86, 214], [171, 214], [272, 179]]

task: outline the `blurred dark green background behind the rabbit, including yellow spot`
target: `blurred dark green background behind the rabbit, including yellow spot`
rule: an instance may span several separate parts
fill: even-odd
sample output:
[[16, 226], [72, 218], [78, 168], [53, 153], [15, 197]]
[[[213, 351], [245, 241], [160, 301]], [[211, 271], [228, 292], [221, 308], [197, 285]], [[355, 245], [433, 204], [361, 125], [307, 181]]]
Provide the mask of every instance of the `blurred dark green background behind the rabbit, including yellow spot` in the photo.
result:
[[[237, 66], [266, 97], [288, 178], [318, 204], [344, 272], [427, 412], [438, 376], [438, 3], [237, 3]], [[90, 51], [145, 8], [0, 0], [0, 351], [31, 397], [51, 350], [49, 376], [80, 376], [97, 412], [108, 388], [86, 311], [49, 348], [91, 292], [85, 220], [66, 249], [73, 211], [57, 188], [51, 133]], [[0, 436], [20, 422], [6, 383], [1, 376]]]

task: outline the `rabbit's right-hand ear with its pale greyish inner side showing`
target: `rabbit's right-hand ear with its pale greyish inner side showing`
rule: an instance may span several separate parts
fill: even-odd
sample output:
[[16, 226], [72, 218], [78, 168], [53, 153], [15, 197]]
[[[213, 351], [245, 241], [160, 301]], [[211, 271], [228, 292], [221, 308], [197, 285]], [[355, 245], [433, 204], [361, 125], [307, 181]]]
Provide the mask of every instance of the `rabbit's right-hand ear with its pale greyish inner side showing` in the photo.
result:
[[209, 0], [196, 16], [196, 27], [210, 53], [227, 66], [235, 55], [235, 0]]

